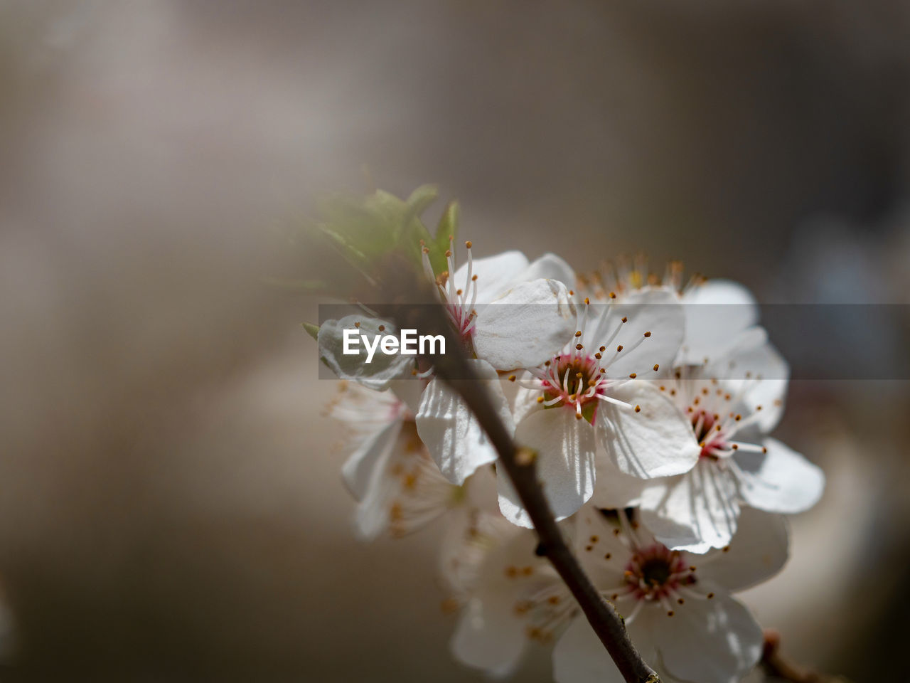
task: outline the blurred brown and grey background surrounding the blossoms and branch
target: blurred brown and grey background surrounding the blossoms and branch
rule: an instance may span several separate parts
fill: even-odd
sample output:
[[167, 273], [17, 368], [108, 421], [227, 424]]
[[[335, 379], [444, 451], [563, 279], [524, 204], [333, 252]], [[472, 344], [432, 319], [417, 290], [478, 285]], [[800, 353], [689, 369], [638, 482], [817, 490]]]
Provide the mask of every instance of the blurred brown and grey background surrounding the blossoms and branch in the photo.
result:
[[[276, 226], [366, 165], [460, 199], [478, 255], [908, 303], [908, 79], [894, 0], [4, 2], [0, 678], [481, 680], [436, 532], [355, 539], [319, 301], [261, 283]], [[855, 352], [888, 367], [899, 328]], [[829, 484], [745, 595], [856, 681], [910, 634], [908, 409], [793, 383], [777, 435]]]

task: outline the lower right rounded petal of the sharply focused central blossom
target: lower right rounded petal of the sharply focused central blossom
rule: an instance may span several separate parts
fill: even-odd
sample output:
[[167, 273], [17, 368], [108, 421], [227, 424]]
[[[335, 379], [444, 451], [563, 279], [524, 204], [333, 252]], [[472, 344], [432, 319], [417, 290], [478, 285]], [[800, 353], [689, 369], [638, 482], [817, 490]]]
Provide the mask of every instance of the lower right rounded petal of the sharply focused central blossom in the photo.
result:
[[598, 437], [622, 472], [650, 479], [688, 472], [701, 452], [692, 424], [651, 382], [628, 382], [610, 395], [641, 411], [602, 401], [595, 413]]

